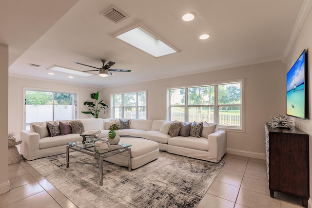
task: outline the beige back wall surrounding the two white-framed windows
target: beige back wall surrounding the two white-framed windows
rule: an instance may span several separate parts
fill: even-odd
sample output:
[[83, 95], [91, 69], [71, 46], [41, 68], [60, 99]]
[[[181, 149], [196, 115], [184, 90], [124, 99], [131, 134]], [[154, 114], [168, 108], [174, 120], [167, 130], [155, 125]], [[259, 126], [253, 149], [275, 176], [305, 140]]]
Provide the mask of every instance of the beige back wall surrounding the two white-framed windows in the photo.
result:
[[107, 97], [109, 94], [147, 90], [147, 118], [165, 120], [168, 88], [245, 78], [245, 132], [227, 132], [227, 149], [229, 153], [265, 159], [265, 123], [270, 122], [272, 116], [286, 114], [285, 70], [285, 64], [274, 61], [107, 87], [102, 92]]

